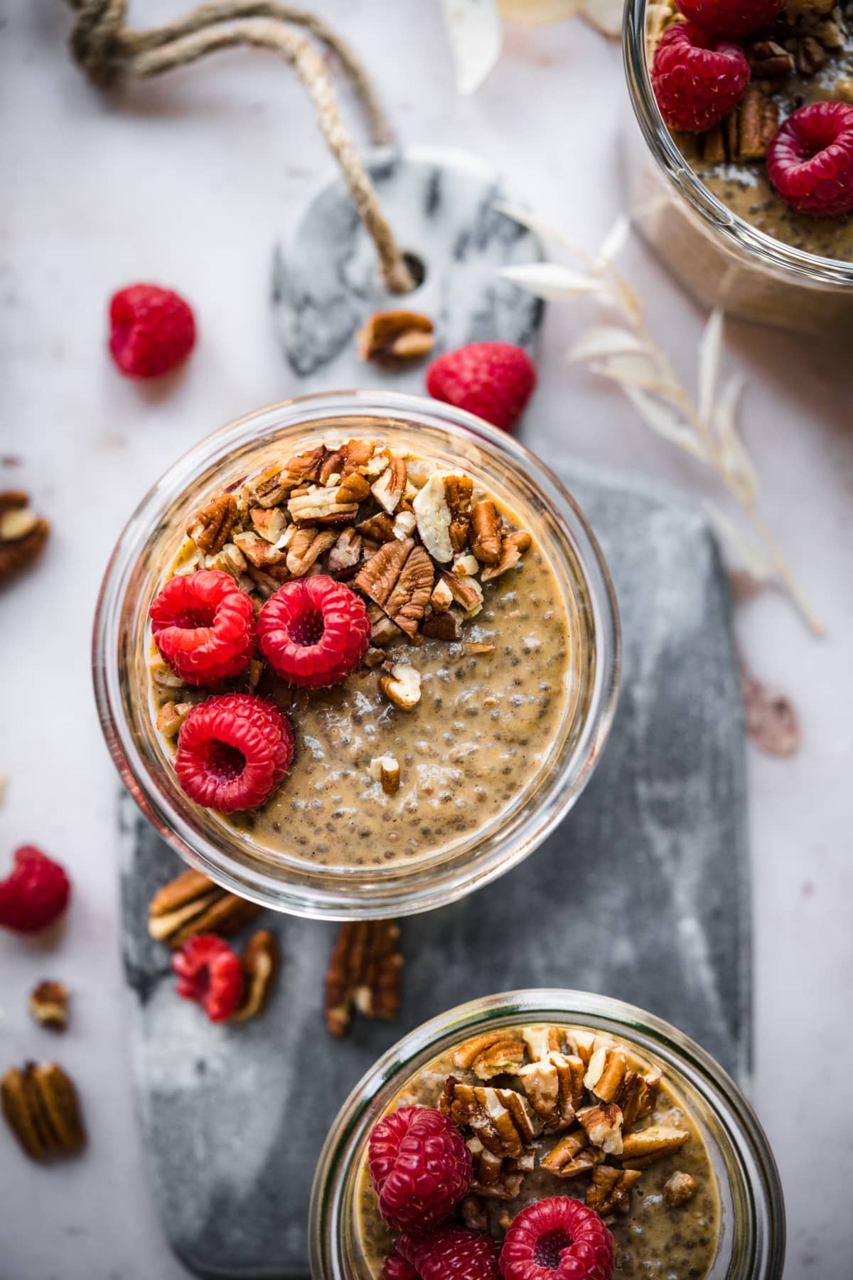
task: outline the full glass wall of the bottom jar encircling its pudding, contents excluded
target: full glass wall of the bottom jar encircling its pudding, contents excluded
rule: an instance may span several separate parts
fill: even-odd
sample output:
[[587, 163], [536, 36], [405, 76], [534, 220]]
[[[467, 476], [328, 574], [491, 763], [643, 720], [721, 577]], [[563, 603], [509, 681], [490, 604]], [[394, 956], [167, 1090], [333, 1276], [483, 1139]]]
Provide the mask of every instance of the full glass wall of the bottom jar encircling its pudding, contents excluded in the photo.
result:
[[324, 1146], [308, 1222], [312, 1280], [373, 1280], [358, 1239], [358, 1184], [371, 1129], [425, 1066], [462, 1042], [519, 1024], [584, 1028], [660, 1068], [711, 1157], [720, 1236], [708, 1280], [779, 1280], [785, 1211], [767, 1139], [737, 1084], [669, 1023], [581, 991], [514, 991], [459, 1005], [387, 1051], [356, 1085]]

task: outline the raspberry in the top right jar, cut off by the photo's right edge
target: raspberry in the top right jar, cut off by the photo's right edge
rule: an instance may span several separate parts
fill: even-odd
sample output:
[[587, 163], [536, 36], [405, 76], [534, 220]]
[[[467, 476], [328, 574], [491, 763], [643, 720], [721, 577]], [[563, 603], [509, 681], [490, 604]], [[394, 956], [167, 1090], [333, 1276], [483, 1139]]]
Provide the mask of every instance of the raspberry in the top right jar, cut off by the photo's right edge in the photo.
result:
[[853, 211], [853, 105], [810, 102], [767, 147], [767, 175], [792, 209], [817, 218]]

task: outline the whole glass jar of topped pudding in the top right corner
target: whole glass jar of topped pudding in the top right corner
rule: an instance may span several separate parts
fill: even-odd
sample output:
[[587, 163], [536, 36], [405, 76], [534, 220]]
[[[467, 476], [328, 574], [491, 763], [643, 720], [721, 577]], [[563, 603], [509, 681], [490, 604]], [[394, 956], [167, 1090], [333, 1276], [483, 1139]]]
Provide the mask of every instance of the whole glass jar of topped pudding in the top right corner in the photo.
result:
[[[739, 9], [757, 26], [725, 31]], [[632, 215], [706, 306], [804, 333], [853, 321], [850, 35], [827, 0], [628, 0]], [[719, 110], [689, 97], [711, 70]]]

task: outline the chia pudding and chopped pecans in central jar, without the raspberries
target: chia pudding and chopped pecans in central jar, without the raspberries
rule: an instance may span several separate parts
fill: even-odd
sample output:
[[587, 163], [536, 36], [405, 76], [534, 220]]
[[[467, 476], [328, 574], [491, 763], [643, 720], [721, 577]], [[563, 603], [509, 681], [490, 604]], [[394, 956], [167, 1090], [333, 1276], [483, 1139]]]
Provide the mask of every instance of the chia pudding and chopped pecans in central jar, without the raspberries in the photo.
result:
[[544, 549], [462, 466], [375, 438], [269, 462], [205, 497], [160, 590], [211, 572], [260, 625], [276, 593], [312, 580], [343, 585], [370, 618], [363, 657], [333, 687], [295, 685], [261, 649], [200, 687], [151, 641], [152, 714], [173, 754], [211, 696], [286, 714], [289, 772], [221, 817], [272, 855], [325, 868], [435, 858], [519, 801], [577, 707], [579, 655]]

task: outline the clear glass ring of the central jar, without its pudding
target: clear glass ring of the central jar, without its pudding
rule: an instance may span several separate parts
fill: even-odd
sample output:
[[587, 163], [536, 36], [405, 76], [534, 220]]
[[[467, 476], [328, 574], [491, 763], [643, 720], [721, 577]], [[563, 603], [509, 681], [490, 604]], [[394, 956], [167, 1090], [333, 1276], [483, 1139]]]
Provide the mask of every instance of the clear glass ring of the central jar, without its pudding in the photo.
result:
[[[528, 529], [569, 618], [572, 668], [559, 731], [505, 810], [411, 863], [324, 868], [272, 852], [180, 790], [155, 728], [147, 611], [191, 515], [274, 458], [353, 435], [382, 438], [462, 466]], [[586, 786], [613, 721], [619, 623], [599, 545], [556, 477], [518, 442], [437, 401], [371, 392], [308, 396], [249, 413], [174, 463], [130, 517], [113, 553], [95, 621], [95, 691], [115, 764], [160, 835], [193, 867], [243, 897], [295, 915], [379, 919], [440, 906], [526, 858]]]

